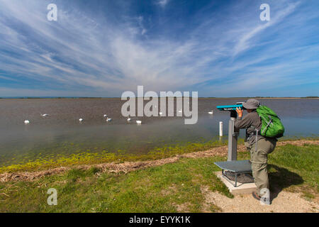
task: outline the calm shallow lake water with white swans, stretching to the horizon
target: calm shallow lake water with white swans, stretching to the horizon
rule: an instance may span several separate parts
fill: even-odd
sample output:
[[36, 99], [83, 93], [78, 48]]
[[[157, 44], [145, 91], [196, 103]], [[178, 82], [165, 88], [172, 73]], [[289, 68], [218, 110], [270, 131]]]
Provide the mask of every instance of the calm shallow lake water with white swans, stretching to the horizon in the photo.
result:
[[[40, 154], [147, 153], [153, 148], [177, 143], [219, 140], [223, 121], [227, 140], [228, 112], [216, 106], [242, 99], [198, 99], [198, 122], [185, 125], [184, 117], [132, 117], [121, 115], [121, 99], [0, 99], [0, 166], [15, 162], [13, 157], [32, 159]], [[285, 138], [318, 136], [319, 99], [259, 99], [272, 108], [285, 126]], [[147, 101], [144, 101], [146, 104]], [[208, 111], [213, 110], [213, 115]], [[47, 117], [40, 114], [49, 114]], [[112, 118], [106, 122], [107, 114]], [[83, 118], [82, 123], [79, 118]], [[29, 120], [28, 125], [24, 124]], [[139, 126], [135, 120], [141, 120]], [[241, 131], [243, 138], [245, 131]]]

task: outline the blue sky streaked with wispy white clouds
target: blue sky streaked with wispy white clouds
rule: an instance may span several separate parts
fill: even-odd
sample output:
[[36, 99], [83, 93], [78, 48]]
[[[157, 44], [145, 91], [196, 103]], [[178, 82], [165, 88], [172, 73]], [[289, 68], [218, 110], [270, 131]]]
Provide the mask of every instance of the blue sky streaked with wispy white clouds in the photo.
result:
[[0, 96], [319, 96], [318, 24], [318, 0], [0, 0]]

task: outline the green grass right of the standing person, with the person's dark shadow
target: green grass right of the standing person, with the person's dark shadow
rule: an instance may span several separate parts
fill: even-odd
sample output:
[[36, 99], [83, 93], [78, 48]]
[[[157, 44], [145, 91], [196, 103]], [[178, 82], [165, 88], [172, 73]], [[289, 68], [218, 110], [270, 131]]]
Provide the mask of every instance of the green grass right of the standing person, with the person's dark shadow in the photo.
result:
[[[249, 153], [239, 153], [241, 159]], [[319, 193], [319, 146], [284, 145], [268, 155], [270, 191], [302, 192], [306, 198]]]

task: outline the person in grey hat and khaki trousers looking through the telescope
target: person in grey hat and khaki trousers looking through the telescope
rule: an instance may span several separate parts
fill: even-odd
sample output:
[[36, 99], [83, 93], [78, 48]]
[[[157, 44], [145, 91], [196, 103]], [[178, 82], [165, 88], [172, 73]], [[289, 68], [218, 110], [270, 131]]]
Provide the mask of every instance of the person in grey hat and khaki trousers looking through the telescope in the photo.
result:
[[[276, 138], [267, 138], [260, 134], [262, 121], [256, 109], [259, 106], [257, 99], [248, 99], [242, 104], [248, 114], [242, 118], [243, 109], [236, 108], [238, 118], [235, 121], [235, 131], [246, 128], [245, 146], [250, 150], [250, 162], [252, 162], [252, 176], [257, 186], [257, 192], [252, 192], [255, 199], [260, 200], [262, 189], [269, 190], [267, 171], [268, 154], [276, 147]], [[257, 134], [257, 135], [256, 135]], [[256, 148], [257, 145], [257, 148]]]

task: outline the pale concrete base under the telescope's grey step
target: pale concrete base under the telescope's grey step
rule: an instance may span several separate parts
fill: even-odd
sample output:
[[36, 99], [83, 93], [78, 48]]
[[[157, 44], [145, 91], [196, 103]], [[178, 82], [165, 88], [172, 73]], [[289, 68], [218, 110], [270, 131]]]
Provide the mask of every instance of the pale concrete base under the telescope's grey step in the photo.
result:
[[254, 183], [246, 183], [246, 184], [242, 184], [242, 183], [238, 183], [237, 182], [237, 187], [235, 187], [233, 184], [235, 184], [235, 182], [232, 182], [233, 184], [231, 184], [230, 182], [228, 182], [227, 179], [225, 179], [222, 175], [222, 172], [214, 172], [218, 178], [220, 178], [220, 180], [226, 185], [226, 187], [228, 187], [229, 191], [231, 194], [235, 195], [235, 194], [252, 194], [252, 192], [256, 192], [256, 184]]

